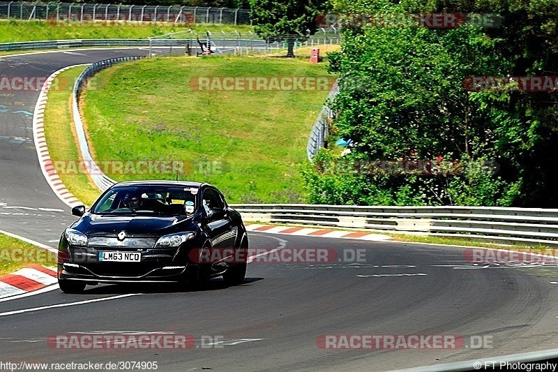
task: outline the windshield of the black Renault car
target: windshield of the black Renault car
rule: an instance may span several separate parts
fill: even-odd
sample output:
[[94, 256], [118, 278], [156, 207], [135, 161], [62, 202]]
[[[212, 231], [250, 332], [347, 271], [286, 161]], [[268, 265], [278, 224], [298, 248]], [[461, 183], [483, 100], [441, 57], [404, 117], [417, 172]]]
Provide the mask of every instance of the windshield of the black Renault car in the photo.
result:
[[197, 187], [119, 186], [103, 195], [93, 214], [149, 214], [179, 216], [193, 214]]

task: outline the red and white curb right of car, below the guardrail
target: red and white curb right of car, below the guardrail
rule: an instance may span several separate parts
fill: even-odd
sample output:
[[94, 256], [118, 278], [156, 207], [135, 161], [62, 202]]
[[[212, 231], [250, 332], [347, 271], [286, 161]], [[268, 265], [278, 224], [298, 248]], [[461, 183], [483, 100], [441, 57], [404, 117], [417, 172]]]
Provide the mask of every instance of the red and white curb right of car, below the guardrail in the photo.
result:
[[258, 225], [256, 223], [245, 224], [246, 230], [254, 232], [268, 232], [271, 234], [288, 234], [299, 235], [304, 237], [325, 237], [325, 238], [338, 238], [338, 239], [360, 239], [370, 241], [388, 241], [395, 240], [388, 235], [375, 234], [365, 231], [348, 232], [333, 229], [318, 229], [318, 228], [289, 228], [288, 226], [276, 225]]

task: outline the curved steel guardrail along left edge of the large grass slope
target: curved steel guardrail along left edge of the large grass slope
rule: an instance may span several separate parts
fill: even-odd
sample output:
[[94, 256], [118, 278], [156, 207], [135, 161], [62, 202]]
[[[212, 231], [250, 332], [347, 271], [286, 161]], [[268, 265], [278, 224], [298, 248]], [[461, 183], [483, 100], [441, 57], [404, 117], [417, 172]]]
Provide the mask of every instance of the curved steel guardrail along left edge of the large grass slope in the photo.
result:
[[75, 122], [75, 131], [77, 133], [77, 139], [80, 142], [80, 149], [82, 151], [82, 157], [84, 160], [84, 164], [86, 166], [86, 170], [93, 179], [93, 182], [100, 188], [101, 190], [105, 191], [107, 188], [116, 184], [116, 181], [108, 177], [103, 171], [100, 170], [97, 163], [93, 161], [93, 157], [91, 156], [91, 152], [89, 151], [89, 144], [87, 144], [87, 138], [85, 136], [82, 115], [80, 114], [80, 107], [78, 102], [80, 101], [80, 93], [84, 89], [87, 79], [98, 71], [103, 70], [107, 67], [113, 66], [114, 64], [118, 64], [120, 62], [127, 62], [127, 61], [135, 61], [137, 59], [145, 58], [143, 56], [137, 57], [121, 57], [121, 58], [114, 58], [114, 59], [106, 59], [105, 61], [99, 61], [91, 66], [87, 67], [83, 72], [77, 77], [75, 80], [75, 85], [73, 89], [73, 97], [72, 97], [72, 110], [73, 110], [73, 118]]

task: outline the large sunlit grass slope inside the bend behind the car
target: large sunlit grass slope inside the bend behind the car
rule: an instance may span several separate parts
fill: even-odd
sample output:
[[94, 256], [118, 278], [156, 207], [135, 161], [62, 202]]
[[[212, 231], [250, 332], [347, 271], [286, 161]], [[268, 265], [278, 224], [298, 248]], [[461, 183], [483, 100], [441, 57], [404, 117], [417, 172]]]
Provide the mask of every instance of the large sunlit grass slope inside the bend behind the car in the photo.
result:
[[[94, 156], [98, 162], [183, 161], [180, 179], [214, 184], [229, 202], [302, 202], [299, 168], [329, 87], [200, 91], [195, 83], [190, 86], [197, 77], [292, 76], [328, 77], [324, 64], [278, 57], [167, 57], [103, 70], [84, 95]], [[176, 178], [171, 172], [133, 170], [108, 175], [119, 181]]]

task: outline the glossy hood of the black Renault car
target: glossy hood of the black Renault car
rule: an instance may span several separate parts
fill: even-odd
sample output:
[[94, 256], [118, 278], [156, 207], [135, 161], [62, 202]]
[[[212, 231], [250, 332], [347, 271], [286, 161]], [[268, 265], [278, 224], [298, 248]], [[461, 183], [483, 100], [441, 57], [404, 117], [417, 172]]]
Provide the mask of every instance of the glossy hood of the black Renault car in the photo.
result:
[[[180, 224], [180, 226], [178, 226]], [[186, 225], [185, 225], [186, 224]], [[84, 214], [73, 226], [88, 237], [116, 237], [124, 231], [128, 237], [154, 237], [188, 229], [192, 216], [107, 216]]]

